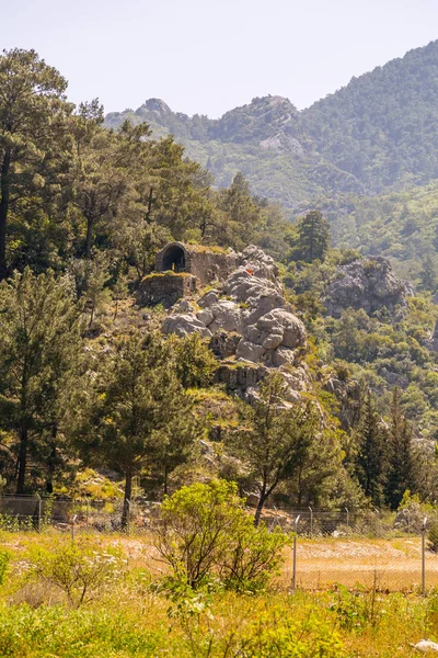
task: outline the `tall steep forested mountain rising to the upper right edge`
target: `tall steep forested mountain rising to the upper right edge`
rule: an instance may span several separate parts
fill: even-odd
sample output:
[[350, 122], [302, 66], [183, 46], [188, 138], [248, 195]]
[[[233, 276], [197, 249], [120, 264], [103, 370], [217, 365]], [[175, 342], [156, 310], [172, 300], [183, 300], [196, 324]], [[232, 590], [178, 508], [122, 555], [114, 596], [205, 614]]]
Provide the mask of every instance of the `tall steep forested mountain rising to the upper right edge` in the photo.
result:
[[438, 41], [318, 101], [301, 127], [370, 192], [438, 178]]

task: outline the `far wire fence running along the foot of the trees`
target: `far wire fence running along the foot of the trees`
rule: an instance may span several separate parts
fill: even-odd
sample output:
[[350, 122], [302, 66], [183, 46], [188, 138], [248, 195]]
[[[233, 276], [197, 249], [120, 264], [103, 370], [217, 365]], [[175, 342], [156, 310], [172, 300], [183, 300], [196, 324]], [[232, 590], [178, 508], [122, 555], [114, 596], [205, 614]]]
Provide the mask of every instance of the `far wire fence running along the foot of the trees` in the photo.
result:
[[[51, 526], [65, 530], [74, 523], [78, 530], [90, 529], [107, 533], [125, 529], [135, 534], [149, 529], [159, 508], [160, 502], [143, 498], [127, 501], [126, 522], [122, 527], [122, 499], [3, 495], [0, 496], [0, 529], [41, 531]], [[247, 509], [250, 513], [254, 511], [253, 508]], [[270, 530], [279, 526], [286, 532], [295, 532], [309, 538], [350, 535], [381, 537], [394, 530], [420, 536], [423, 523], [423, 515], [414, 514], [408, 509], [402, 510], [394, 519], [393, 515], [388, 515], [388, 511], [376, 508], [322, 510], [311, 507], [272, 507], [264, 510], [262, 518]]]

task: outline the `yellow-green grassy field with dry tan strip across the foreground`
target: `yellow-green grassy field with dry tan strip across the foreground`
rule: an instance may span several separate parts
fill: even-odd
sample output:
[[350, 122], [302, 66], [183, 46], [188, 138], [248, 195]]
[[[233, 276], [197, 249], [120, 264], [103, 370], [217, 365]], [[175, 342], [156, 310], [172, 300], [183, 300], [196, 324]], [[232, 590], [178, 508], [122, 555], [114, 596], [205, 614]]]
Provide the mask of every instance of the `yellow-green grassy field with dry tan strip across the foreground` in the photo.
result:
[[[411, 644], [438, 639], [438, 594], [423, 599], [415, 589], [417, 537], [299, 537], [293, 595], [288, 549], [268, 592], [219, 589], [175, 597], [160, 585], [162, 566], [150, 534], [93, 535], [88, 547], [118, 551], [124, 567], [79, 608], [68, 604], [59, 587], [28, 577], [33, 552], [59, 553], [70, 542], [50, 529], [0, 533], [1, 547], [12, 554], [0, 587], [0, 656], [406, 658], [417, 655]], [[438, 583], [438, 559], [428, 556], [427, 566], [428, 585]], [[403, 592], [383, 587], [387, 575], [395, 589], [395, 574], [403, 575]]]

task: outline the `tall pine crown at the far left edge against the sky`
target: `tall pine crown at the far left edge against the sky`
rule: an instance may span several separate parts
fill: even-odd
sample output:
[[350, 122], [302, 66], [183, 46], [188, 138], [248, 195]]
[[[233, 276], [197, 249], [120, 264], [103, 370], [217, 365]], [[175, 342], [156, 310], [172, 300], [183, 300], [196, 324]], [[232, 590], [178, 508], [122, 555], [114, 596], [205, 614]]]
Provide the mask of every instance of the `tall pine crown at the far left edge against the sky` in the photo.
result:
[[[59, 159], [71, 111], [66, 80], [34, 50], [0, 56], [0, 281], [8, 273], [7, 237], [11, 209], [41, 205], [47, 184], [59, 185]], [[38, 200], [38, 201], [36, 201]]]

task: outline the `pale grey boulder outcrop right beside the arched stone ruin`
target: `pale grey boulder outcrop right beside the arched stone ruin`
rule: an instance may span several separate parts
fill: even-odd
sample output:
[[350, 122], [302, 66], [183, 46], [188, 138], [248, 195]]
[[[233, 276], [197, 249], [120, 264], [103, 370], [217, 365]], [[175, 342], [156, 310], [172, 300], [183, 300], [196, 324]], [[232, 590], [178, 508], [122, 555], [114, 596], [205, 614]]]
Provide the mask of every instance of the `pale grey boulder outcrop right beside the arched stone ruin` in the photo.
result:
[[174, 306], [162, 331], [177, 336], [198, 331], [210, 338], [211, 349], [227, 361], [218, 377], [231, 388], [252, 387], [276, 367], [290, 384], [290, 399], [297, 399], [296, 392], [304, 390], [309, 378], [300, 365], [306, 328], [283, 296], [269, 256], [250, 246], [238, 262], [220, 287]]

